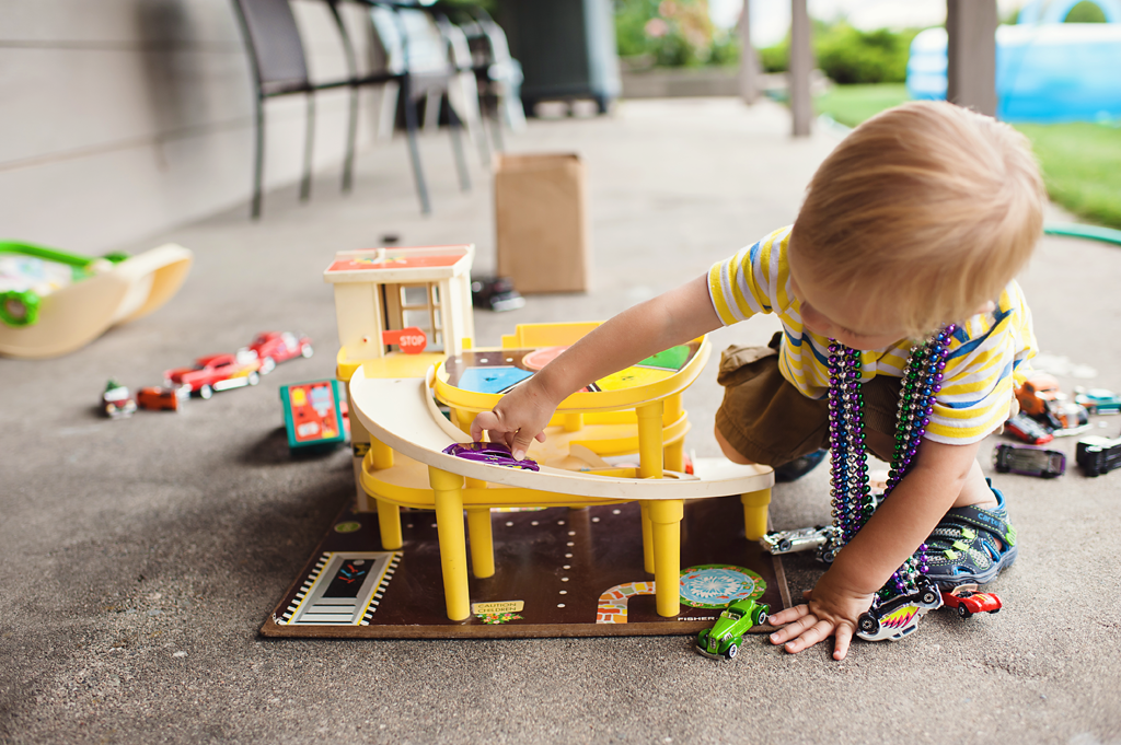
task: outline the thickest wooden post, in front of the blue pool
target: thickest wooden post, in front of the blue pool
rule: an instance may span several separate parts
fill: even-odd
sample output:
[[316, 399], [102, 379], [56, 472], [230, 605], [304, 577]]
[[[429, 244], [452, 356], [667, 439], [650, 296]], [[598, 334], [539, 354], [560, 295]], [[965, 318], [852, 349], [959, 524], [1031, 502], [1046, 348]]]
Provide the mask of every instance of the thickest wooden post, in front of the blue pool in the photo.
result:
[[997, 0], [946, 0], [946, 100], [997, 115]]

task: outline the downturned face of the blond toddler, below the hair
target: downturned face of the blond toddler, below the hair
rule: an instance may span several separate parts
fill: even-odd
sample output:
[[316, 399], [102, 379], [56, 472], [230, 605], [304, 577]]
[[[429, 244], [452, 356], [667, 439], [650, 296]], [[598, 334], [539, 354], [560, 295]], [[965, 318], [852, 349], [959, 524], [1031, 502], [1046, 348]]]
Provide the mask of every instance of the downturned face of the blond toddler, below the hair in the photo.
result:
[[907, 338], [889, 309], [876, 308], [869, 297], [846, 297], [825, 286], [798, 261], [791, 244], [790, 289], [802, 306], [802, 323], [813, 333], [853, 350], [880, 350]]

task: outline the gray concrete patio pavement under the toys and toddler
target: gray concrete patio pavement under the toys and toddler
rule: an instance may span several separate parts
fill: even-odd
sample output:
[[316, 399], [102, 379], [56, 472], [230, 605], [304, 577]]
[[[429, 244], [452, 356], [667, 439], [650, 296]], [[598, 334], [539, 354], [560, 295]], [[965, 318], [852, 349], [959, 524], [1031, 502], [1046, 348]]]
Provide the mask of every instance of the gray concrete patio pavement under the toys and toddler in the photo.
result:
[[[788, 128], [782, 110], [732, 100], [531, 122], [512, 149], [587, 164], [595, 288], [479, 313], [479, 343], [519, 322], [605, 318], [790, 222], [835, 140]], [[176, 241], [196, 264], [168, 306], [75, 354], [0, 360], [0, 742], [1121, 742], [1121, 473], [997, 475], [1021, 540], [993, 586], [1007, 608], [967, 623], [936, 613], [841, 663], [830, 645], [791, 656], [762, 637], [717, 663], [683, 636], [258, 636], [353, 490], [344, 453], [291, 459], [277, 429], [277, 388], [333, 366], [323, 269], [387, 233], [474, 242], [476, 269], [493, 267], [489, 178], [475, 160], [462, 195], [446, 136], [423, 147], [434, 216], [417, 214], [404, 143], [383, 145], [363, 153], [351, 196], [324, 173], [311, 204], [269, 194], [259, 224], [237, 209], [117, 246]], [[1060, 376], [1067, 390], [1121, 390], [1118, 278], [1121, 251], [1073, 239], [1044, 240], [1022, 278], [1041, 348], [1097, 371]], [[110, 375], [150, 384], [268, 328], [303, 330], [318, 354], [178, 416], [94, 412]], [[775, 328], [754, 319], [716, 347]], [[717, 454], [714, 379], [711, 362], [686, 399], [702, 456]], [[1117, 436], [1121, 418], [1103, 420]], [[1073, 441], [1058, 447], [1073, 457]], [[777, 487], [773, 523], [826, 522], [826, 487], [824, 468]], [[805, 556], [786, 567], [795, 596], [821, 571]]]

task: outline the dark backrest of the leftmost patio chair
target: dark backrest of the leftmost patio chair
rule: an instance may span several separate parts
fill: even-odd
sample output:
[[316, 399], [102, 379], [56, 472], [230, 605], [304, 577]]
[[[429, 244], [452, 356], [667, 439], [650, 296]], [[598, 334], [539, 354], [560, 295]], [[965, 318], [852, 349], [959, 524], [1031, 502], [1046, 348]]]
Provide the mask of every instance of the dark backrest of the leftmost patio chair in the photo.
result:
[[308, 85], [307, 59], [288, 0], [233, 0], [242, 19], [257, 82], [266, 94]]

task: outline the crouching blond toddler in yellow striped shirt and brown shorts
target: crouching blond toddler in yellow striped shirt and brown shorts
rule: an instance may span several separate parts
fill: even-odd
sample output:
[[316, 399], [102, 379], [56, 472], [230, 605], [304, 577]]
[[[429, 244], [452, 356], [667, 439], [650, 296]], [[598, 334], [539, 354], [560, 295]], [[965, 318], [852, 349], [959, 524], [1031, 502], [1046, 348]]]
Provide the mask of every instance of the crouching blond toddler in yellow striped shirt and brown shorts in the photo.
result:
[[534, 438], [544, 440], [557, 404], [584, 385], [772, 313], [782, 332], [770, 347], [732, 347], [721, 361], [715, 436], [724, 454], [813, 463], [831, 444], [830, 365], [854, 355], [863, 443], [891, 462], [897, 441], [908, 447], [896, 431], [897, 411], [908, 410], [908, 356], [941, 332], [941, 390], [927, 391], [932, 406], [919, 416], [928, 421], [914, 422], [925, 434], [909, 469], [806, 603], [770, 618], [782, 625], [771, 641], [788, 652], [833, 635], [842, 660], [860, 614], [921, 544], [924, 574], [942, 587], [988, 583], [1016, 558], [1004, 497], [976, 454], [1009, 417], [1035, 353], [1013, 277], [1041, 233], [1044, 198], [1029, 146], [1011, 128], [944, 102], [886, 111], [825, 159], [793, 226], [604, 323], [480, 413], [472, 436], [487, 430], [521, 458]]

